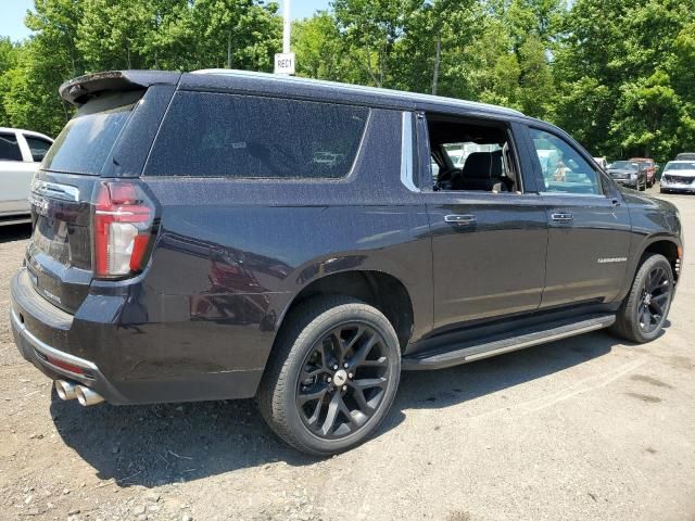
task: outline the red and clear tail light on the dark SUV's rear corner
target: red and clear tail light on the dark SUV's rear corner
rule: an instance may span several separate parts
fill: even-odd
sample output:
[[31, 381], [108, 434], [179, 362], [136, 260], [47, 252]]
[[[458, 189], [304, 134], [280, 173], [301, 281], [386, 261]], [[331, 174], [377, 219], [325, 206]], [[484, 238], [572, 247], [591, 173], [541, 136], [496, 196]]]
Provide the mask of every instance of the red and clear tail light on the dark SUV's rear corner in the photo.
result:
[[141, 271], [152, 234], [154, 204], [134, 182], [104, 181], [94, 211], [94, 275], [123, 277]]

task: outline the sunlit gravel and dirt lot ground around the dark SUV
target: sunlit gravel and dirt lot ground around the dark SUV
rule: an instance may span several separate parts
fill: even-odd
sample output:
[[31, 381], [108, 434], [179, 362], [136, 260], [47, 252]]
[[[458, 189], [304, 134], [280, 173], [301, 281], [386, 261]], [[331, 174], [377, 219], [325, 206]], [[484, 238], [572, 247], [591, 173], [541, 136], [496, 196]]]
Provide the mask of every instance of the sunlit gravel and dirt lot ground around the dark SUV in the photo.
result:
[[[670, 195], [695, 243], [695, 196]], [[81, 408], [16, 352], [0, 228], [0, 513], [8, 520], [695, 520], [695, 256], [666, 334], [597, 332], [404, 373], [380, 434], [327, 460], [252, 402]]]

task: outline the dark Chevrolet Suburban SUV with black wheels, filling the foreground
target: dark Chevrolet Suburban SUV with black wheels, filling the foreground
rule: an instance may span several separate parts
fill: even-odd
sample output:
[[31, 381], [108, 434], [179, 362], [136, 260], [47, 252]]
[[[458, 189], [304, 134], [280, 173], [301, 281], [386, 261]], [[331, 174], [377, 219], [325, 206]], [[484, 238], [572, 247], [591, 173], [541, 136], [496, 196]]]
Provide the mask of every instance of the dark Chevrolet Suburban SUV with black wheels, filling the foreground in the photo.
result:
[[402, 369], [665, 323], [677, 209], [521, 113], [230, 71], [60, 93], [79, 110], [33, 183], [11, 320], [61, 398], [255, 396], [328, 455]]

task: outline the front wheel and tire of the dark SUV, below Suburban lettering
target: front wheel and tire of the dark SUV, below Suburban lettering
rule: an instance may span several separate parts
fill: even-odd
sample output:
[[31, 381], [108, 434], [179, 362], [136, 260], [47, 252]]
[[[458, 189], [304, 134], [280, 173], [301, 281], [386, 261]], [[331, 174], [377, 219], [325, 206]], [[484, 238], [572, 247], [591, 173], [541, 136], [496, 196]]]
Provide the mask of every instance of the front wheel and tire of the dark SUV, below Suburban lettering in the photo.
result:
[[645, 255], [630, 293], [618, 309], [611, 331], [639, 344], [650, 342], [661, 332], [672, 300], [673, 271], [670, 263], [664, 255]]

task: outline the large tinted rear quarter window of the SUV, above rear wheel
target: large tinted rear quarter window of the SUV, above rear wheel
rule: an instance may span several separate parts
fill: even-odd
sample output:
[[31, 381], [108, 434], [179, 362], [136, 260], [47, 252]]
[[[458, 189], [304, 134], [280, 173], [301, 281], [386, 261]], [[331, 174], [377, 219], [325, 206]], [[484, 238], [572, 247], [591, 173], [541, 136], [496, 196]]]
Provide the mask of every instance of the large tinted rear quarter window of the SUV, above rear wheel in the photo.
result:
[[369, 110], [276, 98], [178, 92], [146, 175], [341, 178]]

